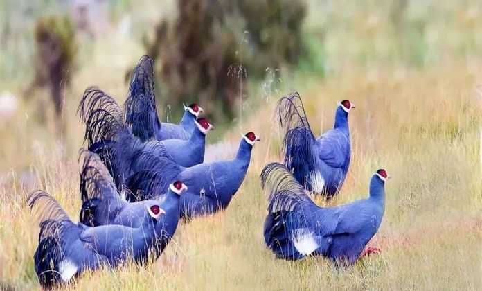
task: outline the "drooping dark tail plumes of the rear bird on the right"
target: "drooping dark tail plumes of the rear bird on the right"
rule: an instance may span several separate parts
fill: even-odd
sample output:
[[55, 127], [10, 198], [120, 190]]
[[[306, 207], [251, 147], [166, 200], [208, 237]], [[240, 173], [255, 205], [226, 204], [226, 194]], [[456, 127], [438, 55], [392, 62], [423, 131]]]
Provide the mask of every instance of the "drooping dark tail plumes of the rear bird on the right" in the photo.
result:
[[310, 173], [316, 166], [314, 148], [316, 139], [308, 123], [305, 107], [298, 92], [278, 101], [278, 120], [285, 134], [283, 164], [292, 171], [300, 184], [311, 190]]

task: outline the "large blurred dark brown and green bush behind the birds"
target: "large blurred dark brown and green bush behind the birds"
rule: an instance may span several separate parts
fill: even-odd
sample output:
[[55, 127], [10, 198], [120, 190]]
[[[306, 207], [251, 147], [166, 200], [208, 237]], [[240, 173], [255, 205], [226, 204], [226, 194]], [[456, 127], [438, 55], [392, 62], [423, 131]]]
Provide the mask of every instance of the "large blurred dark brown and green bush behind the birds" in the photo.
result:
[[303, 1], [178, 0], [177, 9], [177, 19], [161, 19], [145, 40], [148, 55], [160, 60], [166, 104], [199, 100], [216, 117], [234, 118], [248, 75], [262, 78], [303, 53]]

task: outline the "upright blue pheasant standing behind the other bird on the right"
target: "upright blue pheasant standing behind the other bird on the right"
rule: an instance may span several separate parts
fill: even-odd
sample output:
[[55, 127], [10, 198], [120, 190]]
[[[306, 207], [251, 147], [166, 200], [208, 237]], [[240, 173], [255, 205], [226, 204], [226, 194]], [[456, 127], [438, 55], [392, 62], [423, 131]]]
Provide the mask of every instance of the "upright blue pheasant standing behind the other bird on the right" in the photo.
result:
[[353, 108], [349, 100], [341, 101], [332, 130], [316, 138], [297, 92], [278, 101], [276, 115], [284, 133], [283, 164], [308, 191], [332, 197], [343, 186], [350, 166], [348, 113]]

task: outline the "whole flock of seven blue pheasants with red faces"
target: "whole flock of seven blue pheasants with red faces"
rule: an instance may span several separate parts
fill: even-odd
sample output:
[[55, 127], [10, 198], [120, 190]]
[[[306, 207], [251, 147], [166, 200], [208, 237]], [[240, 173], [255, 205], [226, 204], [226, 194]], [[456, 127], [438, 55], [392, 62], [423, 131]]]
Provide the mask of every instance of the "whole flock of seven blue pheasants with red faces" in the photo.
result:
[[[284, 133], [283, 164], [271, 163], [260, 175], [268, 192], [265, 244], [278, 258], [321, 255], [350, 265], [365, 254], [384, 215], [384, 169], [371, 178], [368, 198], [320, 207], [313, 195], [336, 195], [350, 164], [348, 114], [343, 100], [334, 127], [318, 138], [307, 121], [299, 94], [281, 98], [276, 109]], [[199, 117], [197, 104], [184, 106], [179, 124], [157, 116], [152, 60], [134, 68], [127, 99], [120, 107], [104, 91], [89, 87], [78, 107], [87, 149], [79, 153], [79, 222], [44, 191], [28, 205], [39, 220], [35, 272], [44, 288], [68, 283], [85, 270], [127, 261], [147, 264], [159, 258], [179, 220], [224, 211], [240, 188], [259, 136], [242, 136], [233, 159], [204, 163], [206, 135], [213, 125]]]

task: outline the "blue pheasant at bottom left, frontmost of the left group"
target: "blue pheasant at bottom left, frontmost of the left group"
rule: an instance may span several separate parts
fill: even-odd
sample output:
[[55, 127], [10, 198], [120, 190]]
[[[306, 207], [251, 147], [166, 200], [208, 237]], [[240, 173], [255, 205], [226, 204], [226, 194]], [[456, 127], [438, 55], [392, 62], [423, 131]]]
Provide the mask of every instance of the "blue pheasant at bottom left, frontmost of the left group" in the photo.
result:
[[103, 265], [116, 267], [130, 260], [148, 263], [156, 224], [165, 213], [158, 204], [145, 205], [148, 215], [138, 227], [87, 227], [72, 222], [57, 200], [44, 191], [33, 191], [27, 202], [39, 220], [34, 264], [44, 288], [69, 282], [74, 276]]

